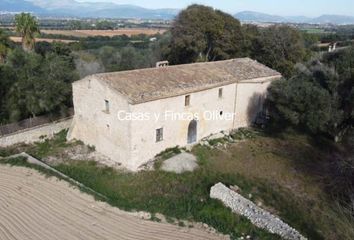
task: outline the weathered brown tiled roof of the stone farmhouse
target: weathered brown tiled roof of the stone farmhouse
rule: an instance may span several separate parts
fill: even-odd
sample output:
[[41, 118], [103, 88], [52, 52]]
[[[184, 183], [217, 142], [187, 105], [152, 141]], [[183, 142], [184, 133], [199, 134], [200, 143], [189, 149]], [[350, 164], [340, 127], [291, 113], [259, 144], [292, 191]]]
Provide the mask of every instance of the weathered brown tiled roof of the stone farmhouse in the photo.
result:
[[96, 74], [91, 77], [138, 104], [235, 82], [281, 75], [249, 58]]

